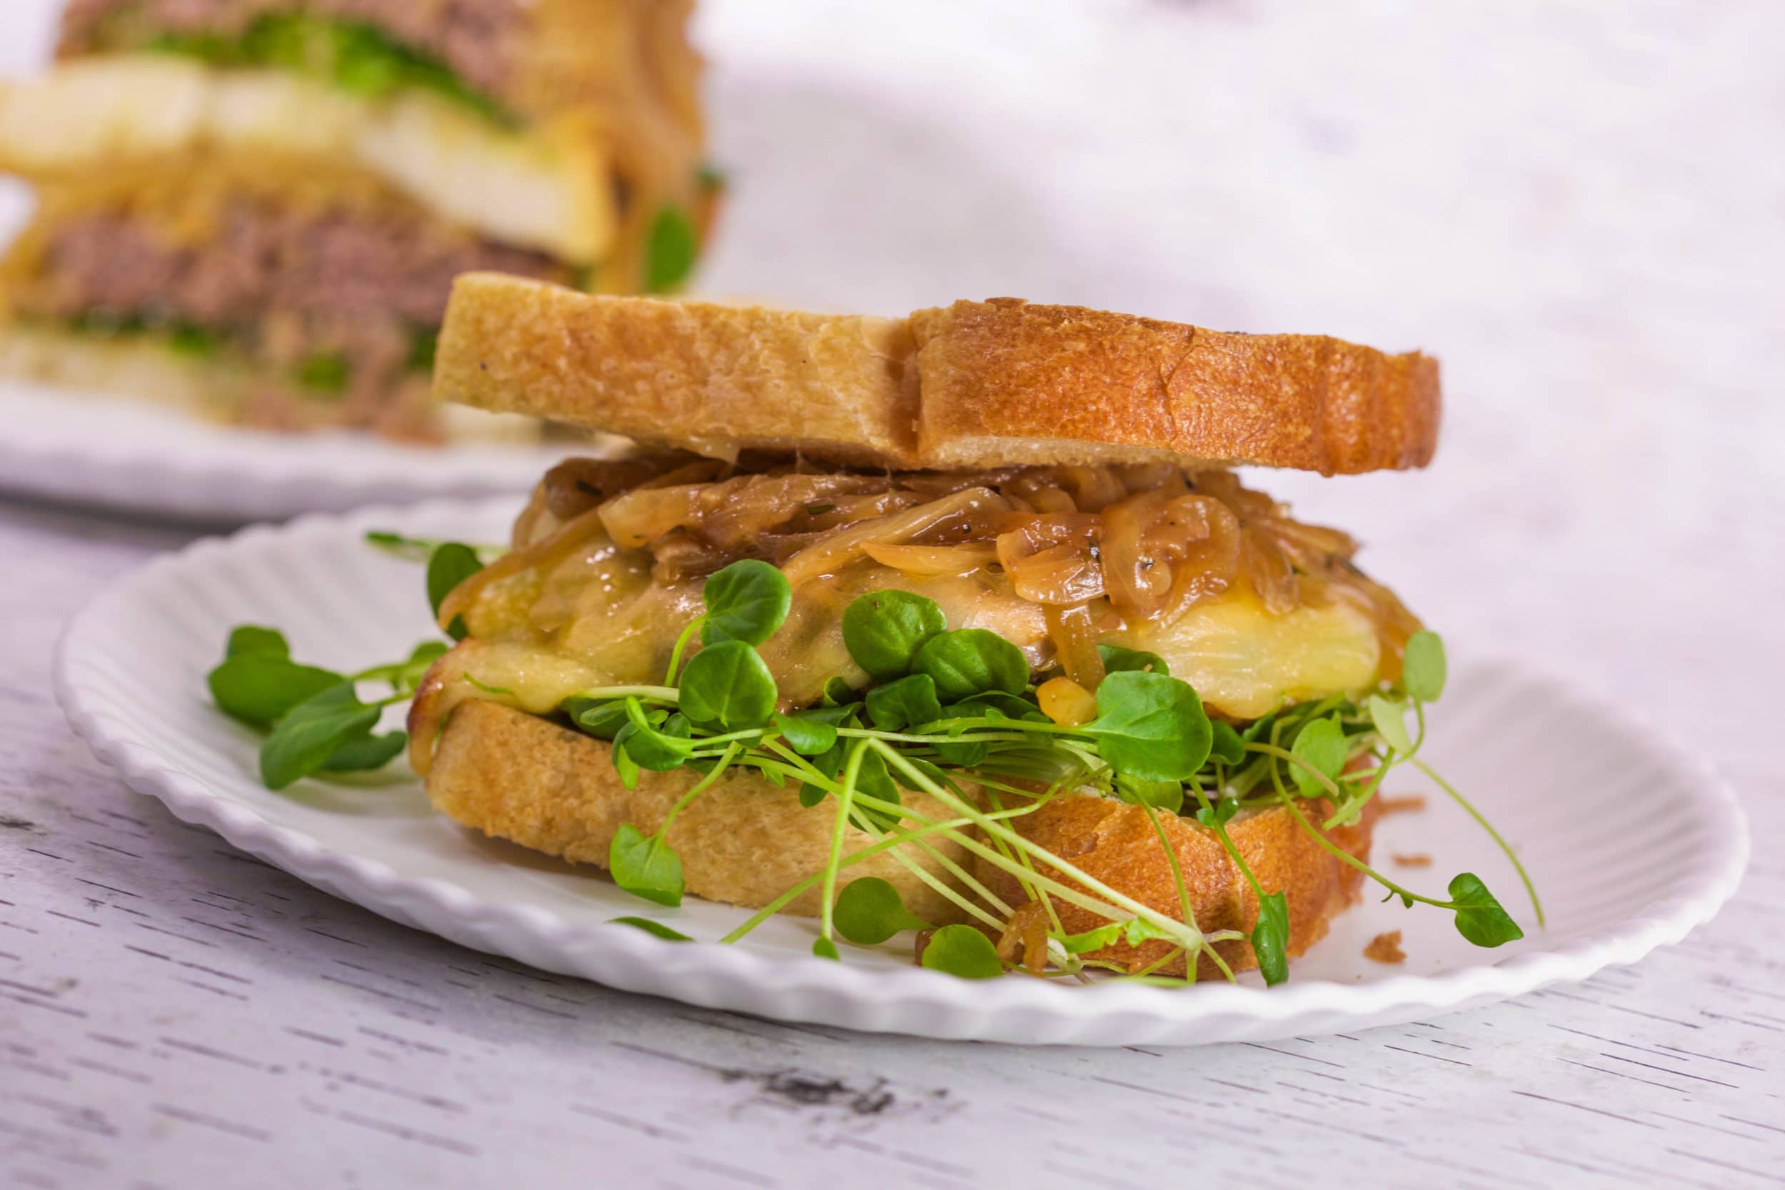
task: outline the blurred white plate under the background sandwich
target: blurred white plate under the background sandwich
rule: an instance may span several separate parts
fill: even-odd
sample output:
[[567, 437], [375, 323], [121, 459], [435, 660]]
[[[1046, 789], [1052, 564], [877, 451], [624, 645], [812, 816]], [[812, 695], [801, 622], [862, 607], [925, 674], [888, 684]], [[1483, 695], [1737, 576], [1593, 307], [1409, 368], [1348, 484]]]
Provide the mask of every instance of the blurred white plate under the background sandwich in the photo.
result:
[[220, 525], [525, 492], [573, 450], [430, 450], [355, 434], [270, 434], [18, 380], [0, 380], [0, 491]]

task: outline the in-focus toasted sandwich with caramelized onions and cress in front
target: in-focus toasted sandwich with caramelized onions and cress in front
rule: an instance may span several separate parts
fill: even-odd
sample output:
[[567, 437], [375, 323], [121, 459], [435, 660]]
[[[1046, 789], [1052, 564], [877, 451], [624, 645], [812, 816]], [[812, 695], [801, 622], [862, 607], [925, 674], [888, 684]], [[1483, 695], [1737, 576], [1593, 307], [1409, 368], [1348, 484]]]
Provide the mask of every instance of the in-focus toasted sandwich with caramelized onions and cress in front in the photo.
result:
[[[452, 639], [380, 671], [450, 819], [648, 905], [755, 910], [726, 940], [807, 915], [816, 954], [910, 931], [962, 976], [1278, 983], [1366, 880], [1521, 937], [1469, 872], [1371, 867], [1442, 644], [1349, 535], [1233, 475], [1424, 466], [1435, 360], [468, 275], [434, 382], [634, 444], [546, 473], [503, 546], [380, 539], [428, 557]], [[343, 755], [375, 717], [343, 712]], [[318, 771], [314, 726], [278, 717], [268, 783]]]

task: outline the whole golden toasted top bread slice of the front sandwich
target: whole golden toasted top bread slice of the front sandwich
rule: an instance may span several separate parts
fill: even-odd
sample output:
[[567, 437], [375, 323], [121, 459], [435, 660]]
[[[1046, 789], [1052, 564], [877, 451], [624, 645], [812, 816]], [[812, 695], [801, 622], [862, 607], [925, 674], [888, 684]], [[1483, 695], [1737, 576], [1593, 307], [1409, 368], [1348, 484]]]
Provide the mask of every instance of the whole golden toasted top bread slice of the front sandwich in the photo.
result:
[[591, 296], [468, 273], [441, 400], [716, 457], [839, 464], [1421, 467], [1439, 366], [1323, 335], [1244, 335], [1016, 298], [905, 319]]

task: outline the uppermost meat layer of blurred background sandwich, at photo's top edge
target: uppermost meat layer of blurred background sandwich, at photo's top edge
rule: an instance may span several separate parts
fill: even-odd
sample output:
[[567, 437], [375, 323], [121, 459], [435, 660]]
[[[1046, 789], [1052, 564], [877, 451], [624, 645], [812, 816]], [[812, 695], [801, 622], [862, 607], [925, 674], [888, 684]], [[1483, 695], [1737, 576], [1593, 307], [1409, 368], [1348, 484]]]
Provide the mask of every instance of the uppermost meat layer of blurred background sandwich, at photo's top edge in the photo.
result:
[[134, 48], [159, 32], [236, 36], [268, 12], [375, 25], [498, 96], [509, 80], [511, 34], [527, 18], [519, 0], [71, 0], [61, 54]]

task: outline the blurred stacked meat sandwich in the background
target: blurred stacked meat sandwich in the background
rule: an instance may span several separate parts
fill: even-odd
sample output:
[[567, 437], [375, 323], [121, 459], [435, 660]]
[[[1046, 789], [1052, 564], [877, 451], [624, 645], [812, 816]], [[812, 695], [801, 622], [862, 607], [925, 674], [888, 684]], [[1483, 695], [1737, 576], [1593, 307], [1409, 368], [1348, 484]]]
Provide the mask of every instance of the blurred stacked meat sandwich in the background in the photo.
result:
[[[666, 293], [703, 168], [691, 0], [71, 0], [0, 84], [37, 187], [0, 375], [241, 425], [439, 441], [452, 278]], [[516, 423], [507, 426], [512, 430]]]

